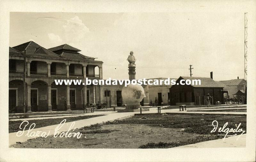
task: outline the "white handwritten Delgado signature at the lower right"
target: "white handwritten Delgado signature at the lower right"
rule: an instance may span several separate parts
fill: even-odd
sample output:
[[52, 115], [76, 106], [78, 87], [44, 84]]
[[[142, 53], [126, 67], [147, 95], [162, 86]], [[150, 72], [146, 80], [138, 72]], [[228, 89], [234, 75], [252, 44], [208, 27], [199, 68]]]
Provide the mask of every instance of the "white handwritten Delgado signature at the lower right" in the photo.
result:
[[[212, 121], [212, 126], [214, 127], [213, 129], [212, 129], [212, 131], [211, 131], [211, 133], [212, 132], [216, 132], [216, 130], [218, 129], [218, 132], [223, 132], [223, 133], [226, 133], [226, 134], [220, 134], [220, 135], [224, 135], [224, 138], [223, 138], [223, 140], [226, 138], [226, 136], [234, 136], [234, 135], [228, 135], [228, 133], [239, 133], [239, 132], [242, 132], [239, 136], [238, 136], [238, 138], [241, 136], [241, 135], [243, 135], [244, 134], [244, 132], [245, 132], [245, 130], [243, 130], [242, 128], [240, 128], [239, 129], [239, 127], [240, 127], [240, 125], [241, 125], [241, 123], [239, 123], [239, 125], [235, 128], [235, 129], [233, 129], [233, 128], [228, 128], [227, 127], [227, 125], [228, 125], [228, 122], [227, 123], [225, 123], [224, 124], [224, 126], [223, 127], [219, 127], [219, 129], [218, 129], [218, 121], [217, 120], [214, 120], [214, 121]], [[226, 128], [227, 127], [227, 128]], [[235, 135], [237, 135], [237, 134], [235, 134]], [[236, 139], [236, 140], [238, 140], [238, 138]]]

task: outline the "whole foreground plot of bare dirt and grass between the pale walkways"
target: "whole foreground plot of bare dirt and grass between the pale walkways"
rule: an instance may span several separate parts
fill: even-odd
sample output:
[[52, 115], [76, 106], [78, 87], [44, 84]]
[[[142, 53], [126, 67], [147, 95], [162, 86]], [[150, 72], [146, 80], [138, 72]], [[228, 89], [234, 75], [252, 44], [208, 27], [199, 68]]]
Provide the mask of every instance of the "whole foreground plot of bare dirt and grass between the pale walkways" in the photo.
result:
[[[36, 138], [17, 143], [14, 148], [171, 148], [222, 138], [211, 133], [212, 121], [220, 126], [228, 122], [229, 128], [241, 123], [246, 130], [246, 116], [232, 115], [135, 115], [104, 125], [83, 127], [75, 132], [81, 138]], [[230, 133], [231, 135], [231, 133]]]

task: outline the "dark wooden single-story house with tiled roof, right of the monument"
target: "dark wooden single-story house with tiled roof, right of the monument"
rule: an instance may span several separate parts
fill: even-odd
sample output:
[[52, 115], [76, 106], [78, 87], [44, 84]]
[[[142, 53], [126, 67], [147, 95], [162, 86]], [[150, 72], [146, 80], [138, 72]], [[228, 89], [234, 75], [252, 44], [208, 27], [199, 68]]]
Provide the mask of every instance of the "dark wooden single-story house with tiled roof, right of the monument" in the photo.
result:
[[[181, 79], [200, 80], [201, 85], [178, 85]], [[217, 101], [223, 103], [223, 88], [223, 84], [212, 78], [180, 76], [170, 88], [171, 105], [205, 105], [204, 97], [207, 93], [212, 96], [211, 104], [216, 104]]]

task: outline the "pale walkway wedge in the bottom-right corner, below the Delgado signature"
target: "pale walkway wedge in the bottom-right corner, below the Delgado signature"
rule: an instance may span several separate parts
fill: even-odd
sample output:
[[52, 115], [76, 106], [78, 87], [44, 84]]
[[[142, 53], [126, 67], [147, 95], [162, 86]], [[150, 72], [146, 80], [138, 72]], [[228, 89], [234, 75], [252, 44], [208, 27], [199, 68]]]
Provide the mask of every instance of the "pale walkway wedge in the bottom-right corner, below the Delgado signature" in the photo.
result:
[[[223, 147], [246, 147], [246, 134], [235, 135], [223, 139], [205, 141], [195, 144], [179, 146], [175, 148], [223, 148]], [[239, 138], [238, 138], [239, 137]], [[238, 140], [236, 140], [238, 138]]]

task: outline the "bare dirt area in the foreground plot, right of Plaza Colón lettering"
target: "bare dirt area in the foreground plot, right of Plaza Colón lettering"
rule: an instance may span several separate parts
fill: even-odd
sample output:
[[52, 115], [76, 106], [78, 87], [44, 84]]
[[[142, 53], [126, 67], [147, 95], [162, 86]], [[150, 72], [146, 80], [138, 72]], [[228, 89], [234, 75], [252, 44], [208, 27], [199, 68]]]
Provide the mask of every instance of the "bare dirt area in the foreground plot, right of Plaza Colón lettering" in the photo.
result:
[[[16, 148], [139, 148], [147, 143], [179, 142], [197, 136], [185, 133], [180, 128], [149, 127], [144, 124], [103, 125], [102, 131], [92, 134], [92, 130], [79, 130], [81, 138], [47, 137], [28, 140], [17, 144]], [[95, 129], [94, 131], [96, 132]], [[103, 133], [104, 130], [109, 133]], [[88, 133], [89, 134], [88, 134]], [[91, 132], [91, 133], [90, 133]], [[33, 141], [33, 142], [32, 142]]]

